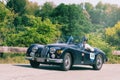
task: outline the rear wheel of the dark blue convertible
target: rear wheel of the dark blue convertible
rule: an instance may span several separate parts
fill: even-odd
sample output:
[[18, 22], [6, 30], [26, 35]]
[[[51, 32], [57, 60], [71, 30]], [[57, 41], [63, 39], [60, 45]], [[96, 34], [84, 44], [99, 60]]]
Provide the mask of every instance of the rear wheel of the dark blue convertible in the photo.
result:
[[94, 70], [100, 70], [103, 65], [103, 58], [101, 54], [98, 54], [95, 59], [95, 64], [93, 64]]

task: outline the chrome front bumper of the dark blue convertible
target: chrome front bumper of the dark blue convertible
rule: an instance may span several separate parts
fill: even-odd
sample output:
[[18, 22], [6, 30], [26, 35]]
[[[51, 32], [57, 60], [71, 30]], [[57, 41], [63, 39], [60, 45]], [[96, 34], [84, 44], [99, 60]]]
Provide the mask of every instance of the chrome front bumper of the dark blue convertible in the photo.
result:
[[27, 60], [36, 60], [37, 62], [63, 63], [63, 59], [33, 58], [33, 57], [26, 57], [25, 59], [27, 59]]

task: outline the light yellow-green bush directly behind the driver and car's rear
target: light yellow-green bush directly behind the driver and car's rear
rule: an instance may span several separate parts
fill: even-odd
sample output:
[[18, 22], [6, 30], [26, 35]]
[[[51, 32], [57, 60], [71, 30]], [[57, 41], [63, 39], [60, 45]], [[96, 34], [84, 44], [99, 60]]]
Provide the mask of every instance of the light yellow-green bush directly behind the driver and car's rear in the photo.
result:
[[88, 43], [91, 44], [93, 47], [100, 48], [103, 50], [107, 56], [111, 56], [112, 50], [114, 49], [111, 47], [105, 40], [101, 37], [101, 35], [96, 35], [95, 33], [91, 33], [87, 35], [89, 40]]

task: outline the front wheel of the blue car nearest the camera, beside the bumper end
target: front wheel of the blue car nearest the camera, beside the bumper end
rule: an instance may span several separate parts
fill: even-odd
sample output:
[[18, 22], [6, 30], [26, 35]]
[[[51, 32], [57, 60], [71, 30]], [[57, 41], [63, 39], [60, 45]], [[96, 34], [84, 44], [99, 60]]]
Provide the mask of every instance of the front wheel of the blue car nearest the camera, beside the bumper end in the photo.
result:
[[63, 63], [61, 65], [61, 68], [63, 71], [68, 71], [72, 66], [72, 57], [70, 53], [65, 53], [63, 57]]

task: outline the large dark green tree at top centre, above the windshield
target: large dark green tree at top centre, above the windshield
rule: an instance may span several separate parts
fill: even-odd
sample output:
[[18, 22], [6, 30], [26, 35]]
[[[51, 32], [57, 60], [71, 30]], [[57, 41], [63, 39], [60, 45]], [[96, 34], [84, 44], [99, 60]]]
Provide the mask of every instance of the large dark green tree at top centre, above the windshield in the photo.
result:
[[[83, 14], [81, 6], [60, 4], [52, 13], [52, 21], [62, 25], [63, 36], [80, 36], [88, 33], [90, 23]], [[89, 25], [89, 26], [88, 26]]]

